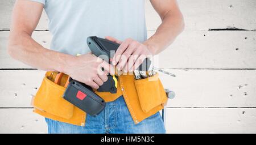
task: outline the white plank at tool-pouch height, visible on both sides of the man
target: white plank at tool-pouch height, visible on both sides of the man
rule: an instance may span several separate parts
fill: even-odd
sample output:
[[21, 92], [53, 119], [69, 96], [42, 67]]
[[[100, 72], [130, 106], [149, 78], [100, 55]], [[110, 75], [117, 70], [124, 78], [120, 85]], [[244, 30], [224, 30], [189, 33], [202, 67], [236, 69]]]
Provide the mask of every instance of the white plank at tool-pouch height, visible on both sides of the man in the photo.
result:
[[[168, 71], [176, 75], [160, 73], [164, 87], [176, 93], [168, 107], [256, 107], [256, 70]], [[0, 71], [0, 107], [30, 107], [43, 75], [38, 70]]]

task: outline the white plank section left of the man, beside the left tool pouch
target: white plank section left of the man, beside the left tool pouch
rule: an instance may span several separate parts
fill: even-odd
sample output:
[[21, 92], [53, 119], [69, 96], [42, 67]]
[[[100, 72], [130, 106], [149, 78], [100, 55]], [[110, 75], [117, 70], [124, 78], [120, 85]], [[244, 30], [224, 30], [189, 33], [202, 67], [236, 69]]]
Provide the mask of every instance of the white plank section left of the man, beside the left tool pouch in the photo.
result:
[[44, 71], [0, 71], [0, 107], [31, 107], [31, 98], [43, 80]]

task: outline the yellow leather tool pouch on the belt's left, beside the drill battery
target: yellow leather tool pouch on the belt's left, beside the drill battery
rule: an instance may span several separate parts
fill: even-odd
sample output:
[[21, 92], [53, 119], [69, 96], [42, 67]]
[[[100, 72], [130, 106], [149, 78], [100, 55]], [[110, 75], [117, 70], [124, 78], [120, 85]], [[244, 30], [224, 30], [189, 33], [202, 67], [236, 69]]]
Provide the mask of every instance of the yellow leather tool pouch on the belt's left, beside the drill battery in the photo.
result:
[[[54, 83], [57, 72], [47, 72], [43, 82], [34, 97], [32, 105], [43, 112], [57, 117], [69, 119], [73, 116], [74, 105], [63, 99], [64, 84], [67, 79], [61, 79], [60, 84]], [[63, 78], [68, 78], [64, 75]]]

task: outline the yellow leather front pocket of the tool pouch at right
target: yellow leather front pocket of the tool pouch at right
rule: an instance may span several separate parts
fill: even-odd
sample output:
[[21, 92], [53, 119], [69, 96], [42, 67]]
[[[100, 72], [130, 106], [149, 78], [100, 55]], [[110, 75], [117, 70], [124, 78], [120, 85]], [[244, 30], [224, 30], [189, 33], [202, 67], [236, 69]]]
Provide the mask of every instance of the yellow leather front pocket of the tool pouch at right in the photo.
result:
[[159, 79], [159, 74], [134, 80], [134, 83], [143, 112], [148, 112], [156, 106], [166, 103], [167, 96]]

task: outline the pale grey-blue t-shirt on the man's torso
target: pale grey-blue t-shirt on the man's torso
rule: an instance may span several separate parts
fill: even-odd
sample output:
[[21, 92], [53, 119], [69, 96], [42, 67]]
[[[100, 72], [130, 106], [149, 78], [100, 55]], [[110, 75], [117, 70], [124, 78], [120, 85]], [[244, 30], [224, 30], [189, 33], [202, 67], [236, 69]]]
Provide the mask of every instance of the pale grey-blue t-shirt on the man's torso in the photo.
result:
[[43, 3], [52, 33], [51, 49], [89, 52], [88, 36], [147, 39], [144, 0], [31, 0]]

